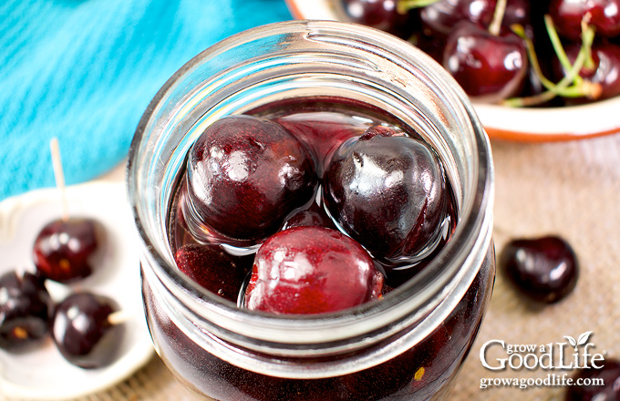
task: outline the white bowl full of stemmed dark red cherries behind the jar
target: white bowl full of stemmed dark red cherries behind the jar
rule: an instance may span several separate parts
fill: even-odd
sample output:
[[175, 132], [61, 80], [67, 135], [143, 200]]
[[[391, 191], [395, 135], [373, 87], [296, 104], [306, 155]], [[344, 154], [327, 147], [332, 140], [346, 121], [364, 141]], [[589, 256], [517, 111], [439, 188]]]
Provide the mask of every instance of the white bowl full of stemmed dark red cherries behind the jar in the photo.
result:
[[295, 18], [371, 26], [418, 46], [455, 77], [491, 138], [620, 131], [620, 0], [286, 2]]

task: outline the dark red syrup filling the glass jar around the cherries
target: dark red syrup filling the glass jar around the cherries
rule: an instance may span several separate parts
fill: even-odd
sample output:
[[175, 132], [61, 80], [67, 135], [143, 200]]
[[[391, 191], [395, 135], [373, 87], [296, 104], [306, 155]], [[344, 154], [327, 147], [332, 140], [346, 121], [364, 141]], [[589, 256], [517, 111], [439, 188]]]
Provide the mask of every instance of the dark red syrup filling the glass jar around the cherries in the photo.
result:
[[[377, 124], [398, 127], [411, 136], [418, 135], [415, 130], [403, 127], [398, 120], [386, 115], [382, 110], [344, 99], [287, 100], [280, 104], [254, 109], [248, 114], [278, 121], [297, 138], [305, 140], [317, 154], [326, 155], [318, 160], [319, 165], [325, 164], [329, 153], [344, 140], [359, 136], [368, 127]], [[319, 170], [322, 172], [321, 168]], [[447, 185], [451, 193], [449, 181]], [[187, 223], [181, 213], [185, 191], [184, 180], [179, 180], [178, 189], [171, 204], [169, 233], [172, 252], [177, 252], [181, 247], [191, 244], [214, 247], [221, 252], [221, 245], [197, 241], [187, 230]], [[447, 229], [444, 230], [436, 250], [427, 259], [414, 266], [397, 269], [380, 266], [387, 271], [388, 289], [407, 281], [423, 268], [434, 254], [439, 252], [445, 242], [449, 241], [449, 235], [453, 232], [457, 221], [454, 202], [452, 201], [451, 204]], [[320, 213], [322, 206], [315, 203], [310, 209], [313, 213], [315, 211]], [[302, 217], [302, 220], [304, 219], [305, 216]], [[331, 226], [330, 221], [327, 221], [326, 225]], [[223, 251], [230, 254], [230, 250]], [[243, 279], [240, 277], [245, 277], [252, 269], [253, 254], [249, 253], [243, 256], [231, 256], [235, 261], [234, 265], [240, 270], [232, 274], [233, 280], [236, 281], [234, 285], [239, 286], [240, 289], [243, 288]], [[487, 260], [494, 260], [492, 254], [488, 255]], [[202, 349], [191, 341], [176, 324], [173, 324], [170, 318], [160, 311], [160, 306], [152, 297], [146, 282], [143, 282], [143, 294], [150, 330], [160, 355], [177, 378], [199, 395], [224, 401], [370, 401], [387, 399], [387, 397], [390, 400], [425, 400], [447, 391], [449, 377], [455, 373], [468, 354], [478, 332], [482, 312], [491, 297], [492, 282], [489, 278], [493, 275], [494, 264], [485, 262], [470, 285], [470, 289], [449, 317], [414, 347], [383, 364], [348, 375], [321, 379], [274, 377], [231, 365]], [[222, 293], [221, 282], [218, 280], [196, 281], [213, 293]], [[236, 302], [235, 295], [229, 294], [226, 298]], [[373, 346], [387, 346], [406, 332], [408, 328]], [[250, 350], [241, 352], [252, 353]], [[347, 356], [350, 355], [339, 355], [333, 358], [336, 360]], [[300, 359], [294, 362], [299, 363]], [[312, 360], [302, 359], [301, 362], [312, 364]]]

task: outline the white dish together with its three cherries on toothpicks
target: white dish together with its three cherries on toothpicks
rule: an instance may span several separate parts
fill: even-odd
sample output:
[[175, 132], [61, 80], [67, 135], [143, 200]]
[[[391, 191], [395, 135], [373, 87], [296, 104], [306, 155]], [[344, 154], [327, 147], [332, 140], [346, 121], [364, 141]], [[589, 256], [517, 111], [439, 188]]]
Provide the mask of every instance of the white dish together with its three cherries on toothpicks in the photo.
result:
[[123, 185], [58, 192], [0, 202], [0, 394], [15, 399], [86, 396], [154, 354]]

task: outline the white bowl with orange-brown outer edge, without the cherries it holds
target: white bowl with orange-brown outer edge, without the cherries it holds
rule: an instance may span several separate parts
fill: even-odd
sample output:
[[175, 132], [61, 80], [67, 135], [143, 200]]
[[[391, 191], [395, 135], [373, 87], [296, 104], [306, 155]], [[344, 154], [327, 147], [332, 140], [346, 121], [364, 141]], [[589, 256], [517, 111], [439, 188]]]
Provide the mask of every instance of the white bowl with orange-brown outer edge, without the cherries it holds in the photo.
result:
[[[337, 20], [334, 0], [286, 0], [297, 19]], [[586, 139], [620, 132], [620, 97], [564, 108], [475, 104], [491, 138], [520, 141]]]

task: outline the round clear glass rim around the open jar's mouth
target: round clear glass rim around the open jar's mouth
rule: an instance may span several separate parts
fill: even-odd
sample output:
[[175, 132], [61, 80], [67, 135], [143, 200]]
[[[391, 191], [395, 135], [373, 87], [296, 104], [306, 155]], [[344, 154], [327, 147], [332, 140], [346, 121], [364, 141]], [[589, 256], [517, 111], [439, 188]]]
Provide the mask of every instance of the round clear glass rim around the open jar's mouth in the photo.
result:
[[[443, 87], [449, 91], [447, 95], [457, 101], [464, 116], [470, 120], [472, 134], [475, 137], [473, 143], [477, 150], [476, 155], [472, 155], [478, 158], [475, 160], [477, 176], [473, 183], [473, 196], [469, 197], [468, 201], [462, 205], [459, 222], [449, 242], [442, 248], [438, 256], [429, 262], [429, 265], [413, 279], [403, 283], [378, 302], [364, 303], [346, 311], [333, 314], [274, 316], [239, 309], [230, 301], [210, 293], [198, 284], [191, 282], [189, 278], [178, 274], [174, 266], [171, 266], [162, 250], [155, 246], [148, 229], [141, 221], [139, 204], [139, 185], [144, 183], [138, 177], [138, 153], [141, 149], [141, 143], [148, 133], [150, 120], [156, 114], [160, 103], [182, 77], [191, 73], [194, 67], [199, 66], [211, 57], [215, 57], [220, 52], [239, 46], [256, 37], [300, 32], [309, 34], [316, 30], [337, 32], [338, 36], [350, 36], [355, 40], [364, 38], [364, 40], [372, 43], [380, 43], [384, 49], [404, 62], [407, 62], [408, 59], [415, 59], [425, 65], [434, 66], [436, 64], [432, 58], [418, 48], [398, 39], [396, 36], [367, 26], [336, 21], [306, 20], [254, 27], [229, 36], [205, 49], [175, 72], [151, 100], [149, 107], [140, 118], [139, 126], [131, 142], [127, 164], [127, 188], [129, 203], [140, 239], [145, 249], [149, 250], [145, 256], [150, 259], [151, 265], [156, 266], [158, 279], [174, 297], [179, 299], [181, 303], [192, 304], [201, 308], [198, 315], [211, 321], [214, 326], [227, 334], [242, 334], [263, 341], [271, 340], [275, 335], [276, 338], [283, 338], [284, 341], [291, 344], [320, 344], [367, 333], [377, 329], [377, 327], [389, 324], [390, 321], [393, 322], [398, 316], [402, 317], [410, 313], [415, 305], [410, 302], [408, 305], [404, 304], [414, 296], [418, 297], [416, 305], [419, 308], [424, 303], [424, 298], [429, 301], [432, 297], [440, 297], [442, 293], [445, 295], [449, 283], [452, 283], [453, 286], [454, 283], [463, 280], [464, 275], [468, 277], [464, 280], [473, 280], [475, 272], [477, 272], [476, 265], [480, 267], [480, 261], [471, 260], [476, 253], [480, 253], [475, 252], [475, 249], [487, 249], [491, 242], [493, 170], [489, 140], [464, 91], [443, 68], [432, 67], [433, 75], [446, 83]], [[480, 259], [483, 256], [480, 256]], [[470, 270], [476, 269], [475, 272], [464, 272], [463, 269], [460, 269], [460, 266], [465, 264], [470, 265]]]

